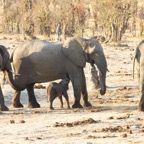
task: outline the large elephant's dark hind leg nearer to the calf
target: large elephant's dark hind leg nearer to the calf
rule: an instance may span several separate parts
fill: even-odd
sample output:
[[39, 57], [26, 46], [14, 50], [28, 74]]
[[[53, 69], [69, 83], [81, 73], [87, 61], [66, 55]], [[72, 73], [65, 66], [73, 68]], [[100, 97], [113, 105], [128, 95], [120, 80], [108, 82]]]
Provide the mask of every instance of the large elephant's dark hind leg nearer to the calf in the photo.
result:
[[36, 97], [34, 94], [34, 84], [30, 84], [27, 86], [27, 92], [29, 97], [29, 108], [40, 108], [39, 103], [36, 101]]

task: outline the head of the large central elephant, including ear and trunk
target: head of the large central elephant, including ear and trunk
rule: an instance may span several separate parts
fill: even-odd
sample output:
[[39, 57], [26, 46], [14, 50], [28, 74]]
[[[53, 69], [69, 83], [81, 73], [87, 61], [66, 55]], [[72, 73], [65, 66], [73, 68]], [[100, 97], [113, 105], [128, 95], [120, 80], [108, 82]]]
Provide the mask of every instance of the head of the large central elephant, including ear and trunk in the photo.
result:
[[63, 52], [75, 65], [85, 67], [86, 62], [99, 70], [100, 94], [106, 92], [107, 62], [101, 44], [96, 39], [71, 38], [63, 44]]

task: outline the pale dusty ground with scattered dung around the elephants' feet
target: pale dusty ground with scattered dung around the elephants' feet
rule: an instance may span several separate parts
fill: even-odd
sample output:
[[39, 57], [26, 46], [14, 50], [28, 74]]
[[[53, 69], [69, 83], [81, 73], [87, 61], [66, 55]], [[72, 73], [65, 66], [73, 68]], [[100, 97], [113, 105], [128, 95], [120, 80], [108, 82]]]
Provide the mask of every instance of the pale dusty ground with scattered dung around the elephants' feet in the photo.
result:
[[[144, 142], [144, 114], [137, 110], [139, 91], [137, 78], [132, 77], [133, 49], [141, 39], [124, 39], [123, 47], [105, 46], [107, 57], [107, 93], [101, 96], [92, 88], [90, 66], [85, 68], [90, 109], [48, 109], [46, 89], [35, 89], [39, 109], [27, 108], [27, 93], [22, 92], [24, 108], [14, 109], [11, 99], [14, 90], [3, 87], [10, 111], [0, 114], [0, 144], [142, 144]], [[20, 43], [19, 37], [1, 36], [0, 44], [12, 49]], [[136, 77], [136, 76], [135, 76]], [[43, 85], [47, 85], [46, 83]], [[73, 91], [68, 91], [73, 104]], [[66, 105], [65, 105], [66, 107]]]

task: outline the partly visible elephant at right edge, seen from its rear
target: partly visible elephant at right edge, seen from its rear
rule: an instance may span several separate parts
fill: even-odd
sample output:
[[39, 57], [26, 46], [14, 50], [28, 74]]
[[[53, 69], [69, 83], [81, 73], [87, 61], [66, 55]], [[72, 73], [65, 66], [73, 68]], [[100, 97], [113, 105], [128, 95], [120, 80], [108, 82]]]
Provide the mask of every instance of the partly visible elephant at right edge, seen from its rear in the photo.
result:
[[134, 63], [136, 63], [140, 88], [139, 110], [144, 111], [144, 40], [136, 48]]

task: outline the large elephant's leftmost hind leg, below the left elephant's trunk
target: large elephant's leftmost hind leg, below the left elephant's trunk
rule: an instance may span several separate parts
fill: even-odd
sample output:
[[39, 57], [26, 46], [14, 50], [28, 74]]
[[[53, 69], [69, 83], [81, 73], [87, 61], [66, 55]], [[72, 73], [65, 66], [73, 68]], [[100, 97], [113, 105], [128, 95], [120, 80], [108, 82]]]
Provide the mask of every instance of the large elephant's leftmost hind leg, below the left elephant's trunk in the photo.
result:
[[13, 99], [12, 99], [12, 105], [15, 108], [23, 107], [23, 105], [20, 102], [20, 94], [21, 94], [20, 91], [15, 91], [15, 93], [14, 93], [14, 96], [13, 96]]

